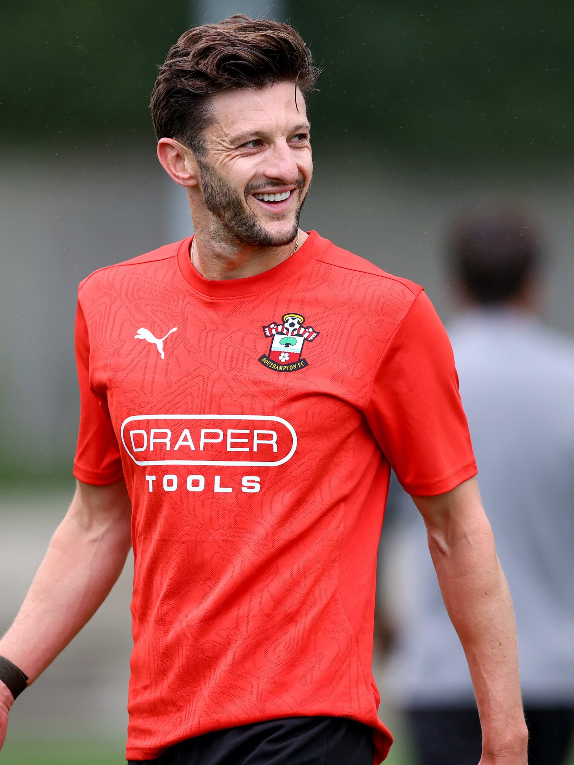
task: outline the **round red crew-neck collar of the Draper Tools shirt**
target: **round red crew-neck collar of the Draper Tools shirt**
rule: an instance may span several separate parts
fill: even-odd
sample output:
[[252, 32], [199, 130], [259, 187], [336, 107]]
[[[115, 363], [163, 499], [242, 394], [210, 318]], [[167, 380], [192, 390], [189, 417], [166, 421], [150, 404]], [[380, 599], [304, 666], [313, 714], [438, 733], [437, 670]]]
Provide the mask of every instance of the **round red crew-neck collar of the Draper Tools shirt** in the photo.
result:
[[178, 244], [178, 267], [191, 287], [210, 298], [240, 298], [282, 285], [285, 279], [307, 265], [327, 244], [327, 239], [323, 239], [316, 231], [308, 231], [307, 239], [297, 252], [269, 271], [238, 279], [206, 279], [191, 263], [190, 247], [193, 238], [188, 236]]

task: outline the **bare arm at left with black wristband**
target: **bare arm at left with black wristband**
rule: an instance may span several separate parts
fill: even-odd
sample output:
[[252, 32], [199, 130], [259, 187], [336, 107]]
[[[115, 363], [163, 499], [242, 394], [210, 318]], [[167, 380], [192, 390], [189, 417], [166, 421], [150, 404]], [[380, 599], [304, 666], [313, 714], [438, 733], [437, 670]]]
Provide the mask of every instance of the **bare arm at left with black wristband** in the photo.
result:
[[[76, 493], [58, 526], [14, 623], [0, 640], [4, 656], [34, 680], [54, 661], [106, 599], [131, 543], [126, 483]], [[0, 748], [14, 699], [0, 681]]]

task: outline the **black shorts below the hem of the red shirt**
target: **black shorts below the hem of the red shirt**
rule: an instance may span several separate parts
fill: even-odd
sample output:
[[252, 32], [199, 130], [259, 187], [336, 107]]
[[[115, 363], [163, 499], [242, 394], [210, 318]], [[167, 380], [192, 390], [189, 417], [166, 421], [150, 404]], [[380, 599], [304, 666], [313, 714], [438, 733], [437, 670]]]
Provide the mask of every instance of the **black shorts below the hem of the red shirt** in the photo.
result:
[[373, 731], [347, 718], [282, 718], [226, 728], [129, 765], [373, 765]]

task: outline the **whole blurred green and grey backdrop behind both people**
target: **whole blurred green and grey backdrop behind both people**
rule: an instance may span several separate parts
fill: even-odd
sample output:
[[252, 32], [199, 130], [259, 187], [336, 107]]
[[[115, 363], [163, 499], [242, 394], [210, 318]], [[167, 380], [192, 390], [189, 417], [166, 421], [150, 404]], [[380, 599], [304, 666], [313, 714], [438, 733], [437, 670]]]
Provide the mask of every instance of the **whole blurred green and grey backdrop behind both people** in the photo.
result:
[[[540, 221], [553, 259], [547, 317], [574, 330], [571, 2], [5, 3], [0, 630], [73, 488], [77, 284], [191, 232], [184, 198], [155, 161], [156, 67], [193, 21], [233, 11], [290, 20], [324, 69], [311, 98], [306, 227], [421, 282], [448, 317], [449, 221], [516, 203]], [[126, 571], [101, 614], [18, 699], [3, 763], [122, 762], [129, 588]], [[384, 685], [382, 669], [377, 679]], [[400, 718], [391, 727], [387, 761], [406, 765]]]

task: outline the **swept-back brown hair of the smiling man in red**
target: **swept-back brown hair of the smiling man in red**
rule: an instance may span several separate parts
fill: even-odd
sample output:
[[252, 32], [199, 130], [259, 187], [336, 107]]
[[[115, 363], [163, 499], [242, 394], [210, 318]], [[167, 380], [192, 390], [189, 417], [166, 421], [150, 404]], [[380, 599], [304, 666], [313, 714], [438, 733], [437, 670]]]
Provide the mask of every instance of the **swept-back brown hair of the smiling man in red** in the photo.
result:
[[152, 92], [158, 138], [176, 138], [197, 155], [213, 122], [209, 99], [232, 88], [297, 83], [307, 103], [320, 70], [301, 35], [289, 24], [236, 14], [181, 35], [159, 67]]

